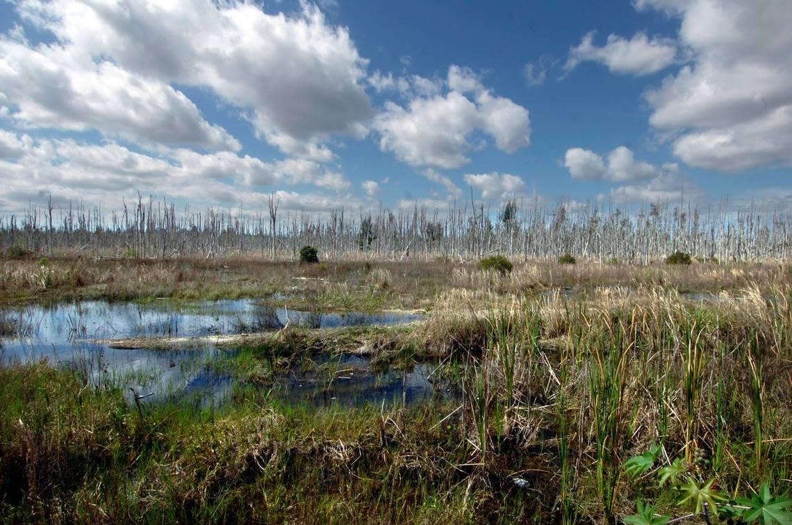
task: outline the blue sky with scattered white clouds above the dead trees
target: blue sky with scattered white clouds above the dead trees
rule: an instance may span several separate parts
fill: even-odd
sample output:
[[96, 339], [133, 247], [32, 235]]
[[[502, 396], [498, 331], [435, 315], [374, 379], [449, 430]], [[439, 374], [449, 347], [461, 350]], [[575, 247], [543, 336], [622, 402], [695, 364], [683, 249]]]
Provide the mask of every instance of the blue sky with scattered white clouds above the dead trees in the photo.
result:
[[0, 214], [792, 207], [792, 2], [0, 0]]

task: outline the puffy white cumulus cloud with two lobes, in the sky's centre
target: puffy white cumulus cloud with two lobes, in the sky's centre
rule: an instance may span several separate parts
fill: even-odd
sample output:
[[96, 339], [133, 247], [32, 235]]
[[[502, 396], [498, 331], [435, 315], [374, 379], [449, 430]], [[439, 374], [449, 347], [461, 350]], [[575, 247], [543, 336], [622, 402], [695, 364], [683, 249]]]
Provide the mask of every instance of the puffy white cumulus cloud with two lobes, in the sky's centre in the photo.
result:
[[477, 129], [508, 153], [530, 144], [528, 110], [495, 97], [473, 71], [451, 66], [445, 85], [446, 94], [425, 86], [406, 108], [386, 102], [373, 126], [380, 135], [379, 148], [411, 166], [451, 169], [470, 162], [466, 154]]

